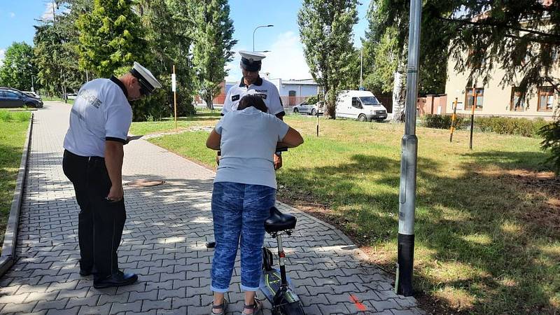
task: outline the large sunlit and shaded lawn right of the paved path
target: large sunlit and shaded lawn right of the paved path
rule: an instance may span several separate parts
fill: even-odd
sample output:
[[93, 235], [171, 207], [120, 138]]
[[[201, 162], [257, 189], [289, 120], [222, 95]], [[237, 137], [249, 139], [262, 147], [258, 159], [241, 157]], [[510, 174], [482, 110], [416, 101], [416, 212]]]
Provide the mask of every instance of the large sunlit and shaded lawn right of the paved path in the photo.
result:
[[[202, 116], [207, 117], [207, 116]], [[216, 117], [217, 118], [217, 117]], [[212, 120], [202, 120], [214, 125]], [[202, 123], [200, 120], [199, 123]], [[349, 235], [394, 270], [404, 126], [288, 116], [305, 143], [283, 155], [279, 198]], [[414, 285], [436, 314], [557, 314], [560, 180], [539, 139], [417, 128]], [[207, 132], [151, 139], [214, 167]]]

